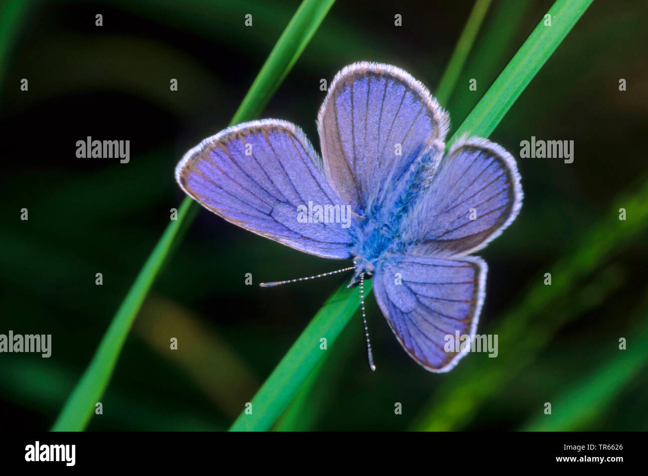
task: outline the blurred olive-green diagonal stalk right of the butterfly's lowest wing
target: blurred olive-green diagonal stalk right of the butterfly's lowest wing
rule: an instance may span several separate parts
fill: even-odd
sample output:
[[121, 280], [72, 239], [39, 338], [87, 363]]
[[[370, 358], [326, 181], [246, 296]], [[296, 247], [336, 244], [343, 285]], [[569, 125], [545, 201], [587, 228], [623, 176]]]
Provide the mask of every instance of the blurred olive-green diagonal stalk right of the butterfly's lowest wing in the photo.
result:
[[[609, 233], [610, 221], [619, 221], [618, 210], [627, 207], [632, 210], [631, 218], [623, 222], [616, 234]], [[529, 286], [522, 302], [498, 319], [487, 334], [499, 335], [503, 353], [487, 368], [478, 359], [452, 373], [449, 381], [439, 387], [432, 396], [430, 412], [421, 418], [421, 429], [448, 430], [468, 421], [474, 409], [483, 398], [492, 396], [498, 387], [514, 372], [531, 361], [535, 353], [548, 343], [557, 329], [574, 317], [581, 315], [592, 305], [601, 304], [601, 297], [608, 293], [614, 282], [621, 280], [620, 269], [602, 273], [605, 281], [595, 284], [587, 280], [596, 273], [601, 262], [640, 236], [648, 220], [648, 177], [643, 187], [619, 199], [597, 225], [583, 234], [570, 247], [561, 260], [548, 266], [551, 285], [546, 286], [546, 277], [538, 277], [535, 285]], [[546, 310], [553, 312], [547, 315]], [[540, 322], [538, 322], [540, 320]], [[633, 341], [641, 339], [632, 334]]]

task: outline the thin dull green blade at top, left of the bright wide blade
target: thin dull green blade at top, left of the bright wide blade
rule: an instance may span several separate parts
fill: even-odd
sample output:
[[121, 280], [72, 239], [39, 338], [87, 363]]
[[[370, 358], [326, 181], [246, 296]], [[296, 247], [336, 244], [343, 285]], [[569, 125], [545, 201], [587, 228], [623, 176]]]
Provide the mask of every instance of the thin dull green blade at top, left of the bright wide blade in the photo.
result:
[[459, 79], [459, 74], [463, 69], [463, 65], [468, 58], [470, 49], [472, 48], [472, 43], [474, 43], [477, 36], [477, 32], [480, 30], [481, 21], [483, 21], [484, 16], [488, 10], [491, 0], [477, 0], [475, 5], [472, 6], [470, 16], [466, 25], [463, 27], [461, 36], [459, 36], [459, 41], [457, 41], [457, 46], [452, 52], [450, 61], [446, 66], [443, 76], [441, 76], [441, 81], [439, 81], [439, 88], [435, 94], [439, 104], [447, 108], [448, 100], [454, 91], [454, 87], [457, 84]]

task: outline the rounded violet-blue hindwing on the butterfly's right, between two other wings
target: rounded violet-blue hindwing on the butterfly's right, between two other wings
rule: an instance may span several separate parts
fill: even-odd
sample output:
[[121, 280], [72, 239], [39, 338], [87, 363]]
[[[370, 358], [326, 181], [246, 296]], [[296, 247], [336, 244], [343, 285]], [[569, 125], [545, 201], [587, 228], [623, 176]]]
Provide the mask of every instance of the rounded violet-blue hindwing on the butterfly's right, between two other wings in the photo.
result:
[[521, 205], [511, 154], [486, 139], [462, 137], [402, 221], [403, 242], [415, 255], [466, 255], [496, 238]]

